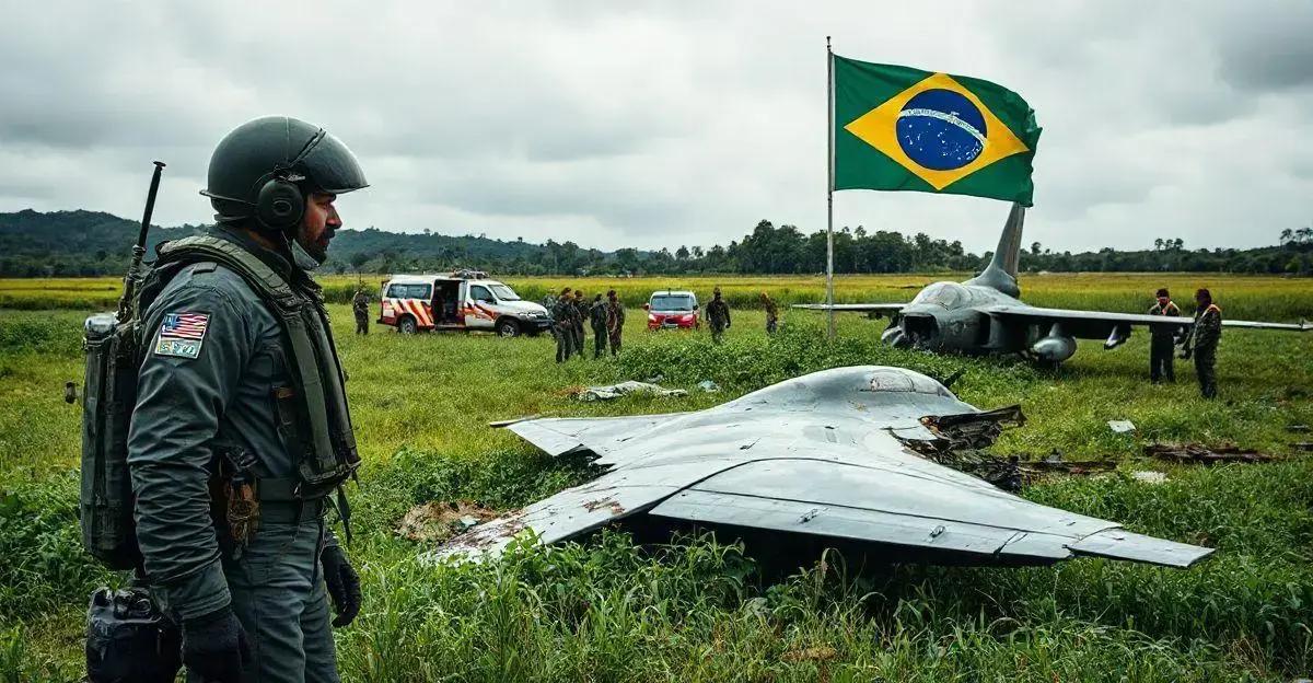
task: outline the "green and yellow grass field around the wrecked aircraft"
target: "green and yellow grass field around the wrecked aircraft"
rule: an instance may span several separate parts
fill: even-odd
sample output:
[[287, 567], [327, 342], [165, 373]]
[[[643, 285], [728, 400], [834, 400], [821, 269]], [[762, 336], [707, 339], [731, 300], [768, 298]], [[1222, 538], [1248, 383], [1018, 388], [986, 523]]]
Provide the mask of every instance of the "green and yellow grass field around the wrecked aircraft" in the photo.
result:
[[[934, 276], [846, 277], [840, 299], [897, 301]], [[355, 278], [330, 278], [331, 292]], [[768, 290], [813, 301], [818, 278], [515, 280], [527, 298], [553, 286], [720, 284], [730, 301]], [[1313, 284], [1230, 276], [1036, 276], [1027, 299], [1140, 310], [1162, 284], [1188, 298], [1211, 286], [1228, 315], [1313, 317]], [[376, 282], [377, 284], [377, 282]], [[51, 286], [53, 285], [53, 286]], [[83, 317], [117, 297], [112, 280], [0, 281], [0, 680], [80, 675], [87, 594], [109, 581], [79, 548], [76, 461]], [[20, 310], [21, 309], [21, 310]], [[723, 345], [702, 334], [649, 334], [632, 311], [620, 360], [551, 363], [551, 340], [490, 335], [351, 336], [332, 307], [365, 458], [353, 491], [351, 556], [365, 582], [360, 619], [339, 632], [347, 680], [1289, 680], [1313, 671], [1313, 458], [1295, 443], [1313, 423], [1313, 335], [1226, 331], [1221, 401], [1197, 398], [1188, 368], [1149, 385], [1148, 340], [1104, 352], [1082, 343], [1058, 370], [1010, 359], [941, 357], [877, 344], [882, 323], [785, 314], [775, 338], [743, 311]], [[412, 506], [474, 500], [508, 510], [582, 481], [579, 464], [541, 456], [490, 420], [529, 414], [613, 415], [708, 407], [815, 369], [893, 364], [947, 376], [979, 407], [1020, 403], [1029, 422], [995, 454], [1121, 462], [1106, 477], [1064, 477], [1025, 496], [1124, 523], [1136, 532], [1217, 548], [1190, 570], [1078, 560], [1041, 569], [859, 567], [800, 557], [764, 573], [734, 539], [680, 537], [635, 548], [621, 533], [524, 549], [483, 566], [429, 566], [395, 527]], [[571, 386], [664, 376], [685, 398], [578, 403]], [[1134, 435], [1115, 435], [1129, 419]], [[1234, 443], [1266, 465], [1165, 466], [1149, 441]], [[1137, 469], [1167, 473], [1149, 485]]]

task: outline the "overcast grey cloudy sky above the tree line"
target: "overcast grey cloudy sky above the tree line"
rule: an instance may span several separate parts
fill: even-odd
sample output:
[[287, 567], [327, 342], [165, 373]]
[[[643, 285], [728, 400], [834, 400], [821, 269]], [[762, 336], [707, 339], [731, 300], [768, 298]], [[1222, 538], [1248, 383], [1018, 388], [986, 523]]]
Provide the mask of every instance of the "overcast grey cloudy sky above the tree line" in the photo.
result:
[[[0, 211], [210, 221], [214, 144], [318, 123], [373, 187], [348, 227], [587, 247], [825, 227], [825, 37], [1019, 92], [1025, 242], [1272, 244], [1313, 222], [1313, 3], [7, 3]], [[848, 190], [835, 225], [994, 247], [1007, 205]]]

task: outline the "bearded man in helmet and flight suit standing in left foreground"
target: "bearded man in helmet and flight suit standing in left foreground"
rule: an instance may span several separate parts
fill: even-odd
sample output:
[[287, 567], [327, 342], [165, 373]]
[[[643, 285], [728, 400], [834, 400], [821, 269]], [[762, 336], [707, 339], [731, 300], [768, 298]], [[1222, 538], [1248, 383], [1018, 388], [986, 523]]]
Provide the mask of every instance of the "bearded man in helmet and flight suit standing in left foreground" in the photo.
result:
[[[181, 625], [188, 680], [339, 680], [330, 621], [349, 624], [361, 594], [324, 516], [358, 457], [322, 290], [309, 271], [323, 263], [341, 227], [335, 200], [364, 187], [347, 146], [294, 118], [244, 123], [210, 159], [202, 194], [217, 226], [207, 243], [242, 255], [232, 261], [248, 272], [263, 264], [265, 281], [281, 282], [303, 303], [299, 319], [309, 332], [293, 339], [309, 335], [314, 352], [298, 355], [298, 368], [289, 363], [286, 324], [242, 268], [222, 259], [179, 260], [148, 305], [143, 290], [146, 353], [127, 464], [146, 573]], [[156, 273], [165, 272], [164, 253]], [[299, 395], [298, 372], [318, 373], [322, 387]], [[299, 436], [306, 423], [324, 423], [285, 419], [295, 412], [293, 402], [303, 406], [311, 395], [330, 418], [328, 433], [311, 430], [326, 440], [310, 449], [341, 465], [312, 483], [303, 470], [323, 461], [306, 453], [309, 441]], [[251, 518], [232, 516], [238, 472], [255, 481], [240, 485], [253, 489], [244, 502], [259, 510], [249, 527], [243, 524]], [[211, 498], [219, 511], [211, 511]]]

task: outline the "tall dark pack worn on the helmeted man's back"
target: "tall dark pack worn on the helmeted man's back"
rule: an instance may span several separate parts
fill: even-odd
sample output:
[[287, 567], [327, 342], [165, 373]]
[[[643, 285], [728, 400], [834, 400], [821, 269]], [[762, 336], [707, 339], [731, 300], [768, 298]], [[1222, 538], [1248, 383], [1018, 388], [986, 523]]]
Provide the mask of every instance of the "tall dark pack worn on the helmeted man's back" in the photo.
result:
[[98, 314], [87, 319], [84, 330], [83, 545], [109, 569], [126, 570], [140, 562], [127, 470], [127, 428], [137, 406], [137, 326]]

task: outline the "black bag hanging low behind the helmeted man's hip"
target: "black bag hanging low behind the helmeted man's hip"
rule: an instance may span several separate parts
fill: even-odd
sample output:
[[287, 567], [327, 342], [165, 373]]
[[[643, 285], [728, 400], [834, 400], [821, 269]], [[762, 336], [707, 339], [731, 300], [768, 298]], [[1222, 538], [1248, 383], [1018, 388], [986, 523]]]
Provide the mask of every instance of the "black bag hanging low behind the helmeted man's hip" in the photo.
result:
[[169, 683], [183, 667], [183, 636], [148, 588], [97, 588], [87, 608], [87, 680]]

